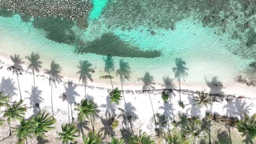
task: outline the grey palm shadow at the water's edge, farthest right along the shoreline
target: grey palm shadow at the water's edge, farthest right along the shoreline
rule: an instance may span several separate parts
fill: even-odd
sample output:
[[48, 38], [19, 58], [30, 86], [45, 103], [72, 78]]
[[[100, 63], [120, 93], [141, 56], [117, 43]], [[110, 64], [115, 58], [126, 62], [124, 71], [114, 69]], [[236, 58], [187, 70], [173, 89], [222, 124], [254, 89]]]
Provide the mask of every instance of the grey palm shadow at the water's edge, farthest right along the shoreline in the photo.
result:
[[222, 92], [222, 89], [224, 88], [223, 83], [218, 80], [217, 76], [214, 76], [211, 82], [207, 81], [205, 76], [205, 81], [207, 86], [210, 87], [211, 94], [224, 94], [224, 92]]

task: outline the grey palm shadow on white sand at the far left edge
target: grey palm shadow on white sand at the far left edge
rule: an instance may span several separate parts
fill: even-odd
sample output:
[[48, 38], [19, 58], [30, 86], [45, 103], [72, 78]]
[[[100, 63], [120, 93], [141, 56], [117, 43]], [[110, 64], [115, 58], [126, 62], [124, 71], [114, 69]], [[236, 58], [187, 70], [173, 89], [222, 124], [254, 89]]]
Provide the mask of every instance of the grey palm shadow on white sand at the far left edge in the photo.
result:
[[1, 91], [4, 91], [9, 96], [10, 101], [11, 101], [11, 98], [14, 97], [14, 95], [17, 95], [15, 91], [18, 90], [18, 88], [15, 87], [15, 82], [13, 81], [13, 79], [10, 79], [9, 77], [8, 79], [5, 79], [4, 77], [2, 77], [0, 89]]

